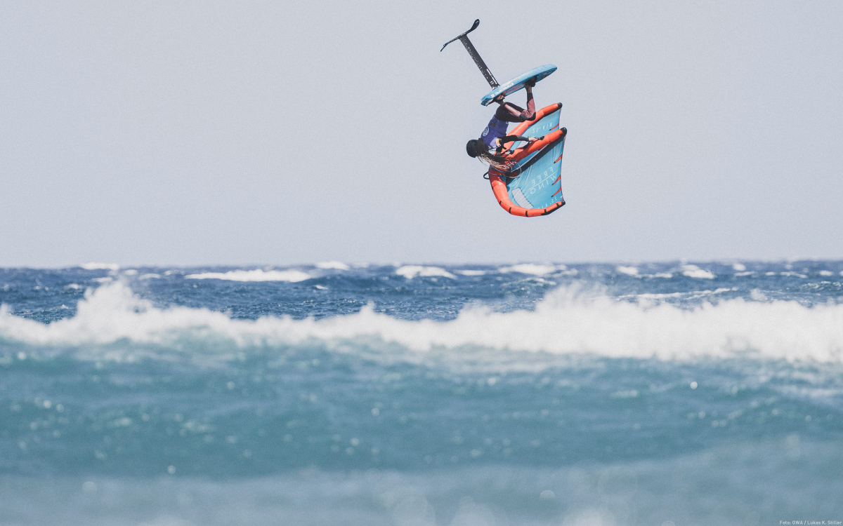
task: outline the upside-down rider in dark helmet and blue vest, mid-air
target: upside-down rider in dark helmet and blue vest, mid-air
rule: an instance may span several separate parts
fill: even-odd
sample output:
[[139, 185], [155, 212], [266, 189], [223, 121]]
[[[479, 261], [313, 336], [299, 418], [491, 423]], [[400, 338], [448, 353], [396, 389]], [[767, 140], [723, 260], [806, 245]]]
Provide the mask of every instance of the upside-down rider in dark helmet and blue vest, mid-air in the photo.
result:
[[529, 79], [524, 85], [524, 88], [527, 90], [527, 109], [504, 102], [503, 94], [495, 98], [495, 102], [499, 104], [495, 110], [495, 116], [489, 121], [486, 130], [483, 130], [480, 139], [472, 139], [465, 145], [465, 151], [468, 152], [470, 157], [477, 157], [491, 167], [501, 172], [506, 172], [508, 163], [504, 157], [504, 144], [511, 141], [540, 141], [545, 138], [544, 136], [524, 137], [522, 135], [507, 135], [507, 123], [535, 120], [534, 86], [534, 78]]

